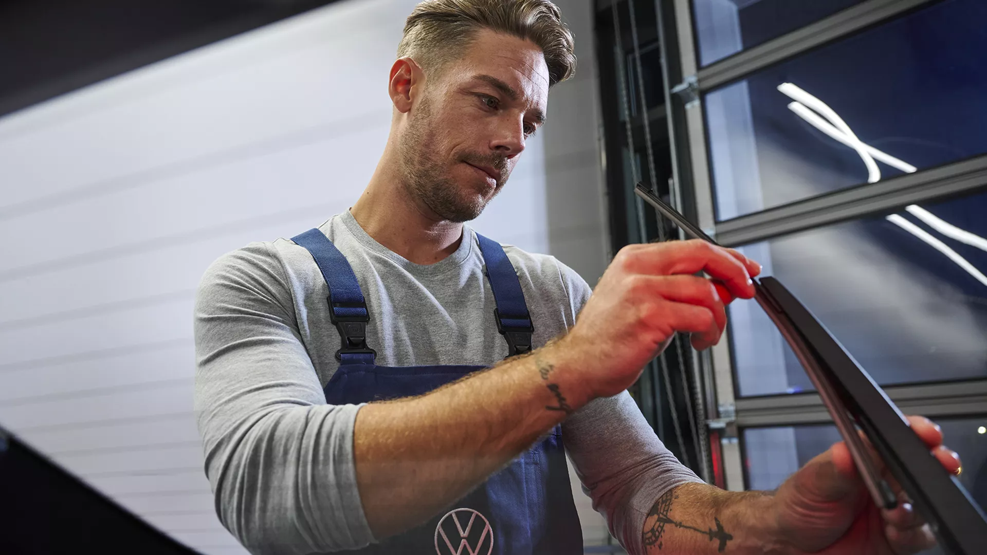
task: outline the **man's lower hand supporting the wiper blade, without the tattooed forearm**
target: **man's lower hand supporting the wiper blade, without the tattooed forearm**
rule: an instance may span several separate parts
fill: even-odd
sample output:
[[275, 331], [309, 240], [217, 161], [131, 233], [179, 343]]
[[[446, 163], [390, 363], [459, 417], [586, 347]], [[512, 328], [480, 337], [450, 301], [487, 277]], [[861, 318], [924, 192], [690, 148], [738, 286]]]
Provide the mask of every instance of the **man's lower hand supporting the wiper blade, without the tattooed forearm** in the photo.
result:
[[[943, 466], [958, 472], [959, 456], [943, 446], [940, 428], [924, 417], [909, 421]], [[906, 555], [934, 545], [929, 525], [886, 471], [885, 479], [901, 500], [892, 511], [874, 506], [844, 442], [810, 460], [775, 495], [780, 540], [790, 548], [783, 551]]]

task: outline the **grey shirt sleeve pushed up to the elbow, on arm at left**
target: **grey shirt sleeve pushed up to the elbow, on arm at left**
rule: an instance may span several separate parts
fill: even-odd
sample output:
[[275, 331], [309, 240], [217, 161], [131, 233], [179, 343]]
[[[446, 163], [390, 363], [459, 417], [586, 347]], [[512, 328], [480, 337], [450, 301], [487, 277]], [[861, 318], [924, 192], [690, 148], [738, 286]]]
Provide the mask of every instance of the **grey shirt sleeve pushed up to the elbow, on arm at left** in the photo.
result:
[[195, 411], [220, 520], [252, 553], [360, 547], [373, 536], [353, 465], [358, 405], [327, 405], [291, 292], [264, 244], [225, 255], [195, 302]]

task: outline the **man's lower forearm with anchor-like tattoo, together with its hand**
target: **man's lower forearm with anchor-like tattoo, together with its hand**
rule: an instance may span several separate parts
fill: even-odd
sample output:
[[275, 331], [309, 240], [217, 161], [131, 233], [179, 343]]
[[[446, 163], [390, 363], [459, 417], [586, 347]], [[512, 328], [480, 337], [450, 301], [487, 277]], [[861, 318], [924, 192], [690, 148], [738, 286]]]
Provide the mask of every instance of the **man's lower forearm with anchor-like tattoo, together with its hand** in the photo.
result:
[[[959, 457], [923, 417], [909, 418], [949, 472]], [[873, 456], [873, 452], [872, 452]], [[875, 459], [877, 460], [877, 459]], [[879, 510], [840, 442], [810, 460], [776, 492], [724, 492], [683, 484], [645, 515], [641, 553], [772, 553], [775, 555], [909, 555], [936, 543], [929, 525], [886, 475], [901, 504]]]

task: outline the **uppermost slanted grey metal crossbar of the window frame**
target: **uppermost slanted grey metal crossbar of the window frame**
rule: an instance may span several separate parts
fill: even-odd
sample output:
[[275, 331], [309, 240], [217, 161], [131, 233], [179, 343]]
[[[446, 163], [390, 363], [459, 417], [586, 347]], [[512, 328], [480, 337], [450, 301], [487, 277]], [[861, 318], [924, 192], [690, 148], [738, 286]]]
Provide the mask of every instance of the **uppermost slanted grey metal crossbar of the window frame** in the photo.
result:
[[940, 1], [942, 0], [868, 0], [851, 6], [787, 35], [741, 50], [699, 69], [696, 74], [699, 90], [705, 93], [811, 48]]

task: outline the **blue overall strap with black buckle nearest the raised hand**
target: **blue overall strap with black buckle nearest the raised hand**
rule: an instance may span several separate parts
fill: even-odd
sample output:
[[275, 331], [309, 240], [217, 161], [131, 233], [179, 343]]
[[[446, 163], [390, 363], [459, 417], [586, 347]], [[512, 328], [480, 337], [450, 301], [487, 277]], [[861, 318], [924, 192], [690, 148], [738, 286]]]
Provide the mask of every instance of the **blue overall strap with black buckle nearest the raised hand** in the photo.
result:
[[493, 318], [497, 331], [507, 341], [507, 357], [528, 353], [535, 327], [531, 323], [528, 305], [524, 302], [521, 281], [499, 243], [479, 233], [477, 239], [480, 240], [480, 252], [487, 264], [487, 279], [496, 302]]

